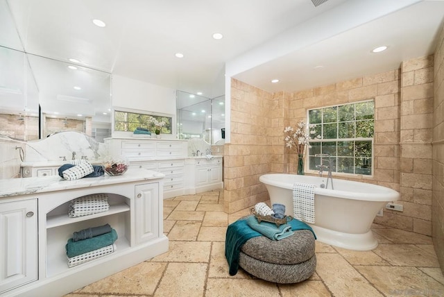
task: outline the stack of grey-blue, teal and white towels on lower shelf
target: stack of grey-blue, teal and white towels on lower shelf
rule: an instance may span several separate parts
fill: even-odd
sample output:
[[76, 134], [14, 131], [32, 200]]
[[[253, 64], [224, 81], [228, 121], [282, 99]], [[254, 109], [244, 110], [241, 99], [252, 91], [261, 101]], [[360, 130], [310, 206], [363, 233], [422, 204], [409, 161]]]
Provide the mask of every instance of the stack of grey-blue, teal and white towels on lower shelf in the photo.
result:
[[[83, 231], [87, 232], [87, 230], [99, 230], [100, 232], [104, 232], [105, 230], [108, 230], [108, 227], [110, 232], [93, 237], [87, 237], [85, 239], [78, 239], [78, 237], [76, 238], [76, 234], [81, 234]], [[74, 240], [75, 238], [77, 240]], [[117, 246], [114, 244], [117, 238], [118, 236], [116, 230], [110, 228], [110, 225], [108, 224], [74, 232], [73, 238], [68, 239], [65, 246], [68, 266], [73, 267], [78, 264], [103, 257], [104, 255], [114, 253], [114, 251], [117, 249]]]

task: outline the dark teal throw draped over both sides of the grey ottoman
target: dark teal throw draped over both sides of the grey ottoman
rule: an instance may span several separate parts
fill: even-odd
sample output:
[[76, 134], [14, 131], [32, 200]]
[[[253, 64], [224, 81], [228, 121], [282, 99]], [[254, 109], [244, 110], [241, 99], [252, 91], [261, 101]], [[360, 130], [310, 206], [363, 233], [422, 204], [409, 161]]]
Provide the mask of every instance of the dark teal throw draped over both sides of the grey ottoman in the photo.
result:
[[[251, 215], [250, 217], [254, 217]], [[237, 269], [239, 269], [239, 254], [241, 253], [241, 247], [247, 242], [248, 239], [253, 237], [262, 236], [261, 233], [253, 230], [248, 226], [246, 219], [240, 219], [228, 225], [227, 233], [225, 235], [225, 257], [228, 261], [228, 273], [230, 275], [235, 275], [237, 273]], [[297, 219], [292, 219], [288, 222], [291, 226], [291, 230], [310, 230], [314, 239], [316, 239], [316, 235], [306, 223], [299, 221]]]

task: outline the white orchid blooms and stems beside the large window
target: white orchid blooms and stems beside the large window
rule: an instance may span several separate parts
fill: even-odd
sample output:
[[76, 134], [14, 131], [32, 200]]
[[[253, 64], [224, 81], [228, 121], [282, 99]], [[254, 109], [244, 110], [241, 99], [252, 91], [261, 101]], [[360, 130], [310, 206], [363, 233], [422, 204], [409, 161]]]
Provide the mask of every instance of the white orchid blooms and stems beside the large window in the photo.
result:
[[[290, 149], [294, 148], [296, 153], [300, 156], [304, 155], [305, 147], [310, 146], [310, 140], [314, 138], [316, 130], [313, 124], [305, 124], [304, 121], [298, 123], [298, 127], [294, 129], [291, 126], [284, 128], [286, 146]], [[321, 138], [321, 135], [316, 136]]]

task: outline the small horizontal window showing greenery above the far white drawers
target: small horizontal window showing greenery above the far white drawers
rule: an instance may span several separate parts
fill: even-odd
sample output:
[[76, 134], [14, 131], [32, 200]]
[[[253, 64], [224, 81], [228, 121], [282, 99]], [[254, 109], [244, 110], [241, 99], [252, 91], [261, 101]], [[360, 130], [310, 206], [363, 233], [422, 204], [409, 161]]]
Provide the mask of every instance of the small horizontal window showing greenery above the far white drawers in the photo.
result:
[[161, 117], [152, 114], [139, 114], [134, 112], [114, 111], [114, 130], [133, 132], [137, 127], [146, 128], [155, 133], [153, 120], [163, 121], [165, 126], [161, 128], [162, 134], [171, 134], [171, 117]]

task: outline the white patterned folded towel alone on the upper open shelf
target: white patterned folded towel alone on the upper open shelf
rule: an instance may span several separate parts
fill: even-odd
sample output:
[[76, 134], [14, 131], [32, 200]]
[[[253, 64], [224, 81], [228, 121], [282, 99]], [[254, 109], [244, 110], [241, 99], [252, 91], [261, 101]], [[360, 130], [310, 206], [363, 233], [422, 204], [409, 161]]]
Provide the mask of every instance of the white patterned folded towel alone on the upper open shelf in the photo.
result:
[[91, 194], [76, 198], [69, 203], [68, 216], [71, 218], [106, 212], [110, 209], [108, 194]]

